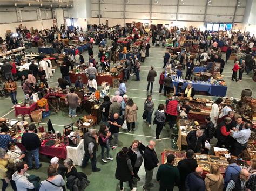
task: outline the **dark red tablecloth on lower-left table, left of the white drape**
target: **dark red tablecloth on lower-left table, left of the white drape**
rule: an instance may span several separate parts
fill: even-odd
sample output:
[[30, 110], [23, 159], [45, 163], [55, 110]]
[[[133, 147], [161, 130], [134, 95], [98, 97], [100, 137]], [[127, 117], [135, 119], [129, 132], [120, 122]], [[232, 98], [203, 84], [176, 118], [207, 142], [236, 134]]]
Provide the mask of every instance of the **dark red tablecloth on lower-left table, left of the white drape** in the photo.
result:
[[[25, 150], [25, 147], [21, 143], [17, 143], [17, 146], [21, 148], [22, 151]], [[55, 147], [55, 145], [49, 147], [41, 145], [39, 148], [39, 153], [43, 155], [48, 155], [51, 157], [58, 157], [61, 159], [66, 159], [66, 146], [65, 147]]]

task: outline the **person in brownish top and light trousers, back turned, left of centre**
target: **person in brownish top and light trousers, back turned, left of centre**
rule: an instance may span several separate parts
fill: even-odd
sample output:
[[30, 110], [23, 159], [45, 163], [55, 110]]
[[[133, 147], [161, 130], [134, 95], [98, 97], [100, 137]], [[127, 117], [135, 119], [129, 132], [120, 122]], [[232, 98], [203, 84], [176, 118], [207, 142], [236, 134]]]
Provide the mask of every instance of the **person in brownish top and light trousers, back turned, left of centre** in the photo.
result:
[[76, 117], [76, 110], [80, 104], [80, 98], [75, 93], [75, 88], [71, 88], [70, 92], [65, 97], [66, 105], [69, 105], [69, 117]]

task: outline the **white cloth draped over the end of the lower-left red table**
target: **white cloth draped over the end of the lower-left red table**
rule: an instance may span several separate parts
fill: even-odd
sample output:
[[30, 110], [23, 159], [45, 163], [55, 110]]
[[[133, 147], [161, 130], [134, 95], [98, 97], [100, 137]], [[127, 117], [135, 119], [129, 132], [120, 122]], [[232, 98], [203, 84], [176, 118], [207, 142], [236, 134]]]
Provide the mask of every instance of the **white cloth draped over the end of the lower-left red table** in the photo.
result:
[[82, 161], [84, 157], [84, 139], [80, 140], [80, 143], [77, 147], [67, 146], [67, 158], [73, 160], [74, 165], [82, 166]]

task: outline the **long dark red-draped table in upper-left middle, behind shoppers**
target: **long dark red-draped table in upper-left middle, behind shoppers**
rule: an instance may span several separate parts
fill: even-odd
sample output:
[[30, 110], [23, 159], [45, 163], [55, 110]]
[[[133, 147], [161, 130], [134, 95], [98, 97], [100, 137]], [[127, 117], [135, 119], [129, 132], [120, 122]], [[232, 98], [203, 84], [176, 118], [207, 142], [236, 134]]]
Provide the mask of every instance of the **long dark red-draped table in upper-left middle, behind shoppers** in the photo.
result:
[[[86, 76], [86, 74], [75, 74], [75, 73], [69, 73], [71, 83], [75, 83], [78, 76], [82, 77], [83, 84], [87, 84], [88, 77]], [[96, 81], [97, 81], [98, 86], [100, 86], [100, 84], [102, 84], [102, 82], [108, 82], [109, 86], [113, 87], [113, 79], [115, 79], [115, 78], [119, 78], [120, 80], [123, 80], [123, 71], [117, 77], [97, 75]]]

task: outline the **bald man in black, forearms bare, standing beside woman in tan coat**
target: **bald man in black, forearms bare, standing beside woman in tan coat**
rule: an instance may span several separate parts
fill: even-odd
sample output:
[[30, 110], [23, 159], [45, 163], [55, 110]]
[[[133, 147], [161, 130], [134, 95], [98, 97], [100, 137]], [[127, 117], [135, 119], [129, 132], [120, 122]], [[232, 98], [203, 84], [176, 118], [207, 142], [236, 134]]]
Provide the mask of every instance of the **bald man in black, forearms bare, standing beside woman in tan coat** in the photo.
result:
[[[112, 149], [117, 148], [118, 144], [118, 135], [119, 135], [119, 129], [122, 128], [123, 120], [119, 117], [119, 114], [114, 113], [110, 116], [109, 121], [107, 121], [110, 124], [109, 131], [111, 132], [111, 137], [109, 138], [110, 146], [113, 146]], [[114, 136], [114, 145], [112, 145], [112, 140]]]

